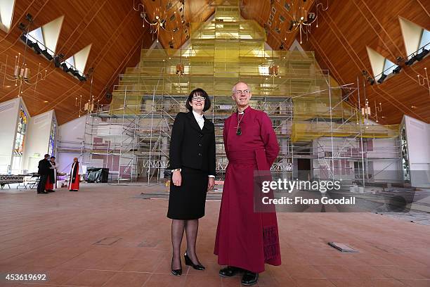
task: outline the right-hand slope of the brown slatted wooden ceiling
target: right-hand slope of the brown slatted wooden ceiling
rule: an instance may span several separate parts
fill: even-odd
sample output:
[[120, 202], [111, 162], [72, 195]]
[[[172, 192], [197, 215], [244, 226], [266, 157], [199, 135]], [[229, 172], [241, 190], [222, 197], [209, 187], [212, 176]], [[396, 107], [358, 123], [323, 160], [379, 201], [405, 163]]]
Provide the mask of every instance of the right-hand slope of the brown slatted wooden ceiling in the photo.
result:
[[[272, 7], [275, 13], [272, 25], [267, 27], [268, 44], [273, 49], [279, 49], [280, 41], [289, 23], [289, 13], [285, 3], [297, 4], [302, 0], [273, 0], [251, 1], [244, 0], [242, 15], [245, 18], [257, 20], [260, 25], [268, 23]], [[315, 11], [315, 1], [306, 1]], [[320, 1], [324, 5], [327, 1]], [[430, 30], [430, 2], [428, 0], [349, 0], [328, 1], [327, 11], [319, 12], [318, 28], [311, 29], [308, 41], [303, 40], [302, 46], [306, 51], [315, 51], [315, 56], [321, 68], [330, 70], [331, 75], [339, 84], [357, 82], [363, 84], [362, 71], [372, 75], [372, 68], [367, 56], [366, 46], [374, 49], [382, 56], [396, 63], [396, 58], [405, 58], [406, 50], [403, 42], [398, 17], [420, 25]], [[279, 16], [286, 18], [279, 23]], [[278, 21], [278, 22], [276, 22]], [[275, 32], [280, 27], [281, 33]], [[290, 36], [290, 37], [289, 37]], [[298, 34], [287, 34], [285, 48], [287, 49]], [[417, 75], [424, 75], [424, 67], [429, 67], [429, 56], [411, 67], [403, 67], [400, 74], [387, 78], [382, 84], [367, 85], [365, 94], [374, 110], [374, 101], [382, 103], [382, 115], [379, 122], [386, 124], [400, 123], [403, 114], [410, 115], [424, 122], [430, 122], [430, 96], [426, 86], [419, 86]], [[363, 91], [361, 96], [363, 96]], [[361, 103], [363, 103], [361, 98]], [[357, 98], [351, 98], [356, 103]]]

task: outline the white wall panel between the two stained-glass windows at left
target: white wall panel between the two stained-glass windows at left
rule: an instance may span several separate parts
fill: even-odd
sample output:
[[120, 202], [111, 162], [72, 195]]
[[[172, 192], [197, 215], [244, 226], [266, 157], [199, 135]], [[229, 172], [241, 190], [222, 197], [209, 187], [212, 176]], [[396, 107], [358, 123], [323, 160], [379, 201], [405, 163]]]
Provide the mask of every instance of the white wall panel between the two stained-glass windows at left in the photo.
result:
[[54, 117], [54, 111], [49, 110], [30, 119], [26, 134], [22, 169], [28, 170], [28, 172], [37, 172], [39, 160], [43, 159], [44, 155], [48, 153], [49, 135]]

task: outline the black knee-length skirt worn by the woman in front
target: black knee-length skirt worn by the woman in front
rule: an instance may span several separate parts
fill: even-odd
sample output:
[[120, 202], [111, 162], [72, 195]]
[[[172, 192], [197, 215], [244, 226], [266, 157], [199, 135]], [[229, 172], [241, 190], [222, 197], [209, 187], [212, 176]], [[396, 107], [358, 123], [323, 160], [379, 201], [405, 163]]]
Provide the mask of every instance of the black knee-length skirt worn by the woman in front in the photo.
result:
[[207, 172], [183, 167], [181, 177], [181, 186], [175, 186], [170, 180], [167, 217], [181, 220], [204, 217], [208, 182]]

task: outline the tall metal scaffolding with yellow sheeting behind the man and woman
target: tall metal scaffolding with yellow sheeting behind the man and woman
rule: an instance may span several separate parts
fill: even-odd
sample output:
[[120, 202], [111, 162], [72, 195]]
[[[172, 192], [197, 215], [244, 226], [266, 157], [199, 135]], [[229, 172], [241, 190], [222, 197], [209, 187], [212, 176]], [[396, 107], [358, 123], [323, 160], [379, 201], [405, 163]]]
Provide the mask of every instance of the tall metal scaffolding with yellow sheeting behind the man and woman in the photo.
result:
[[[192, 23], [189, 29], [191, 37], [179, 50], [142, 49], [138, 66], [119, 76], [110, 106], [87, 115], [86, 165], [110, 168], [117, 182], [161, 181], [169, 166], [174, 118], [185, 111], [190, 91], [200, 87], [211, 97], [205, 117], [215, 125], [216, 170], [222, 179], [228, 164], [223, 121], [235, 111], [230, 94], [239, 80], [252, 89], [251, 106], [273, 122], [281, 147], [272, 166], [275, 176], [300, 176], [294, 160], [308, 159], [311, 170], [318, 170], [308, 177], [342, 177], [346, 172], [339, 172], [336, 162], [355, 160], [361, 162], [364, 183], [365, 143], [398, 137], [397, 126], [365, 120], [348, 103], [349, 96], [360, 98], [358, 80], [339, 86], [320, 70], [313, 52], [273, 51], [263, 28], [240, 16], [238, 1], [216, 6], [207, 22]], [[331, 146], [320, 139], [330, 139]], [[339, 139], [344, 143], [335, 147]], [[396, 158], [400, 153], [394, 147]]]

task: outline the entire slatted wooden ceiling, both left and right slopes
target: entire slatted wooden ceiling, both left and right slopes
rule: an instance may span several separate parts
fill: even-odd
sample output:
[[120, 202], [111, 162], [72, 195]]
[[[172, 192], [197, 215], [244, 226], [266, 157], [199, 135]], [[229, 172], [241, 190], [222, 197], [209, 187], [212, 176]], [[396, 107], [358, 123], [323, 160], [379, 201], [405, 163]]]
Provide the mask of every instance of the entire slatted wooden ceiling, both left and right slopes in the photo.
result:
[[[6, 55], [9, 59], [8, 74], [12, 74], [11, 60], [18, 53], [24, 53], [25, 44], [20, 40], [18, 24], [25, 22], [25, 15], [33, 15], [33, 27], [44, 25], [51, 20], [65, 15], [63, 27], [58, 40], [57, 53], [64, 53], [65, 58], [92, 44], [86, 71], [93, 68], [92, 91], [100, 103], [107, 103], [105, 94], [112, 90], [118, 81], [118, 75], [125, 67], [138, 63], [141, 48], [152, 44], [152, 34], [148, 24], [143, 27], [139, 0], [95, 0], [95, 1], [57, 1], [57, 0], [20, 0], [15, 3], [15, 12], [11, 32], [6, 34], [0, 30], [0, 62], [4, 64]], [[188, 23], [207, 20], [214, 13], [214, 4], [223, 0], [188, 0], [185, 1], [184, 23], [182, 25], [183, 1], [180, 0], [140, 0], [145, 4], [145, 12], [153, 15], [161, 7], [167, 21], [167, 29], [177, 32], [160, 32], [159, 42], [166, 49], [170, 44], [177, 49], [186, 41], [189, 34]], [[268, 44], [273, 49], [288, 49], [299, 37], [296, 33], [287, 33], [292, 11], [290, 7], [303, 4], [308, 11], [315, 11], [315, 0], [242, 0], [240, 7], [242, 16], [256, 20], [268, 32]], [[324, 6], [327, 0], [323, 0]], [[319, 12], [318, 28], [313, 27], [310, 37], [303, 39], [302, 46], [306, 51], [315, 51], [321, 68], [330, 70], [330, 74], [339, 84], [356, 82], [363, 84], [362, 70], [372, 74], [367, 57], [366, 46], [374, 49], [396, 63], [396, 57], [405, 56], [403, 37], [400, 31], [398, 16], [402, 16], [417, 25], [430, 30], [429, 1], [426, 0], [393, 0], [385, 1], [348, 0], [328, 1], [327, 11]], [[275, 9], [273, 9], [275, 8]], [[138, 10], [138, 11], [136, 11]], [[275, 11], [275, 12], [273, 12]], [[176, 12], [176, 13], [175, 13]], [[271, 19], [272, 13], [272, 19]], [[280, 17], [285, 20], [281, 20]], [[170, 19], [173, 20], [170, 20]], [[268, 20], [271, 19], [271, 25]], [[173, 37], [173, 40], [172, 40]], [[403, 114], [411, 115], [419, 120], [430, 122], [430, 97], [426, 87], [419, 86], [417, 74], [423, 75], [424, 67], [430, 57], [411, 67], [404, 67], [400, 74], [389, 77], [382, 84], [367, 85], [366, 96], [372, 104], [382, 103], [380, 122], [398, 124]], [[27, 87], [22, 94], [30, 115], [44, 113], [55, 109], [60, 124], [77, 117], [75, 98], [82, 95], [87, 101], [91, 89], [91, 80], [79, 82], [67, 75], [43, 56], [27, 49], [27, 65], [35, 77], [38, 64], [48, 70], [46, 80], [34, 87]], [[3, 75], [2, 75], [3, 76]], [[2, 84], [2, 83], [1, 83]], [[13, 83], [0, 87], [0, 101], [6, 101], [18, 95]], [[363, 96], [363, 95], [362, 95]], [[351, 98], [352, 103], [357, 98]], [[363, 101], [363, 98], [361, 99]], [[412, 106], [414, 108], [412, 108]]]

